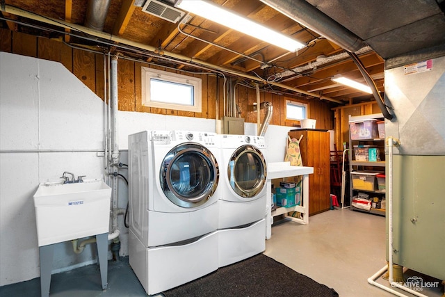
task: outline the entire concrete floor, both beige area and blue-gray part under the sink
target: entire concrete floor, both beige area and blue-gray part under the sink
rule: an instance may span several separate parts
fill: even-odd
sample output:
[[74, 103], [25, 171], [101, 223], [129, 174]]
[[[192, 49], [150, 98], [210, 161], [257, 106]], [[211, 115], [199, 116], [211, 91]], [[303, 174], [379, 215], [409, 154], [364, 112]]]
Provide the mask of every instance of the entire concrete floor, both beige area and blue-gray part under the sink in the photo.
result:
[[[264, 254], [335, 289], [341, 297], [394, 296], [367, 282], [386, 264], [385, 241], [384, 217], [336, 209], [311, 216], [309, 225], [277, 221]], [[389, 287], [381, 278], [378, 282]], [[108, 289], [101, 288], [99, 268], [90, 265], [52, 275], [50, 296], [147, 296], [128, 257], [108, 262]], [[442, 296], [439, 288], [421, 293]], [[40, 296], [40, 278], [0, 287], [0, 296]]]

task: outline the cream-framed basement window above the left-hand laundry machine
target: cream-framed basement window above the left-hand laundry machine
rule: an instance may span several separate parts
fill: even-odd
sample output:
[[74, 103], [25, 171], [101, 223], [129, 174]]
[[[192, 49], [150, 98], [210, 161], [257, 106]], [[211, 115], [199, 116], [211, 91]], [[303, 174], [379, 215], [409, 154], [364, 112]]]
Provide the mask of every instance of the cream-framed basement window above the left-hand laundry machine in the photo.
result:
[[142, 67], [142, 105], [201, 112], [201, 79]]

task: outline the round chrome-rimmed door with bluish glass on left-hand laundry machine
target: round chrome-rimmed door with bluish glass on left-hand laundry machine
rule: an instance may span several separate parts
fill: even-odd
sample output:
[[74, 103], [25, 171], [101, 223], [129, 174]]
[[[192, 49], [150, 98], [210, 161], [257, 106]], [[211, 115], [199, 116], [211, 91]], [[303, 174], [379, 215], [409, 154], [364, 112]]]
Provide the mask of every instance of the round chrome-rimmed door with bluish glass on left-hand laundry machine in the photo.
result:
[[180, 207], [199, 207], [218, 186], [219, 169], [213, 154], [197, 143], [174, 147], [161, 166], [161, 188]]

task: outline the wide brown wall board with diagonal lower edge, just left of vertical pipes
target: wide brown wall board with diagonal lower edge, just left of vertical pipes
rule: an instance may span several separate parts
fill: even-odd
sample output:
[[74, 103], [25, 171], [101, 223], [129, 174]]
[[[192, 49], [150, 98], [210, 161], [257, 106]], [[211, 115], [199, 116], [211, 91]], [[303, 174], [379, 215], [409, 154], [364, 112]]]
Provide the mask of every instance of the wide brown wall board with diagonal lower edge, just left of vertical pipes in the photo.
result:
[[90, 90], [96, 93], [95, 54], [73, 49], [73, 73]]

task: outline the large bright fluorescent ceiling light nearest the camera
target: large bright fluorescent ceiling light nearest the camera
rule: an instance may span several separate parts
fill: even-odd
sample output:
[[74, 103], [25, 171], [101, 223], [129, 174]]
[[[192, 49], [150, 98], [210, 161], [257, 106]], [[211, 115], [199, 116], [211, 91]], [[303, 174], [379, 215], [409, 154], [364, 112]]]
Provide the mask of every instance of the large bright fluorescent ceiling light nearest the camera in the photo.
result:
[[209, 1], [182, 0], [177, 3], [176, 7], [288, 51], [298, 51], [298, 49], [306, 46], [287, 35], [268, 29], [257, 22], [241, 17], [241, 15], [225, 10], [221, 6], [216, 6]]

